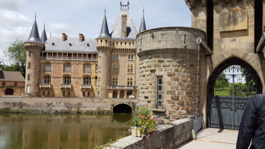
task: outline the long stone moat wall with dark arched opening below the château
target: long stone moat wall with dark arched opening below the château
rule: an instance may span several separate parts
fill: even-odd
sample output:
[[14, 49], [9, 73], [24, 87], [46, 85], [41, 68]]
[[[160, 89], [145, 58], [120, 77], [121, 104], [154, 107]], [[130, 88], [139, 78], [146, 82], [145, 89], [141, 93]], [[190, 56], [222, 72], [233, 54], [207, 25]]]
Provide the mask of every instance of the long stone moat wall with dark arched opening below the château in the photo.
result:
[[137, 99], [88, 97], [0, 97], [0, 112], [112, 113], [131, 112]]

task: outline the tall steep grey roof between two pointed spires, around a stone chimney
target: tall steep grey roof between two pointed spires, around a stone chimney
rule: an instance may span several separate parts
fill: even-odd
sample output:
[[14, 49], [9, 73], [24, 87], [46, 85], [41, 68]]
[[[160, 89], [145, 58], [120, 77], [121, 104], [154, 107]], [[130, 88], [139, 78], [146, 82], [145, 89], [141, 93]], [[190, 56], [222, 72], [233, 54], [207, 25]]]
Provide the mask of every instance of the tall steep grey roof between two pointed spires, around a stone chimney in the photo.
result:
[[136, 35], [138, 31], [134, 25], [134, 21], [131, 19], [129, 15], [129, 10], [121, 10], [119, 12], [119, 16], [116, 18], [113, 28], [112, 28], [112, 39], [114, 40], [124, 40], [122, 38], [122, 15], [127, 15], [127, 37], [125, 40], [136, 40]]

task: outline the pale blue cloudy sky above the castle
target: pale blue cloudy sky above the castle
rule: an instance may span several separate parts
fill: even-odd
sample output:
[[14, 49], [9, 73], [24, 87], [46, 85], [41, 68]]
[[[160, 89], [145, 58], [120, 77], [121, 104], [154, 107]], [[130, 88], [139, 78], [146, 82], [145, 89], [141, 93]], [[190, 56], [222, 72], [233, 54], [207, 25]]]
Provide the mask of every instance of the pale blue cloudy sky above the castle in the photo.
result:
[[[126, 4], [127, 0], [122, 0]], [[0, 0], [0, 56], [14, 40], [28, 40], [35, 12], [40, 35], [45, 23], [47, 36], [98, 37], [107, 10], [107, 23], [119, 14], [120, 0]], [[137, 30], [143, 7], [146, 27], [191, 26], [191, 13], [184, 0], [130, 0], [130, 15]]]

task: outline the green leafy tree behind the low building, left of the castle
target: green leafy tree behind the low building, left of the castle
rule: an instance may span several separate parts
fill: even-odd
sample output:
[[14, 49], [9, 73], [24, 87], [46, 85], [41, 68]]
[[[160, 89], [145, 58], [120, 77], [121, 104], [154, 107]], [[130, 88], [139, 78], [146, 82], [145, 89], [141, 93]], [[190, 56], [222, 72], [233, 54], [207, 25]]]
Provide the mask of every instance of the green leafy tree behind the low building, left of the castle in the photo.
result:
[[8, 58], [9, 63], [7, 64], [1, 59], [0, 69], [2, 71], [20, 71], [25, 77], [26, 52], [23, 41], [12, 42], [4, 52], [4, 56]]

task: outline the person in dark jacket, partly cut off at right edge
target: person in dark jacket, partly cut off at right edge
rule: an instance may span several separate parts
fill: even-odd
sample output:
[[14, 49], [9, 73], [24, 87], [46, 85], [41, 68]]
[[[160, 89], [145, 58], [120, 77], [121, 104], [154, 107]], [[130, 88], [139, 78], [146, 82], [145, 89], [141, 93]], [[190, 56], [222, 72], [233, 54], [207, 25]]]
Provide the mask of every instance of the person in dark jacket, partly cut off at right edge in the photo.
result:
[[265, 94], [254, 95], [247, 103], [237, 136], [237, 149], [265, 148]]

